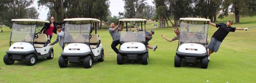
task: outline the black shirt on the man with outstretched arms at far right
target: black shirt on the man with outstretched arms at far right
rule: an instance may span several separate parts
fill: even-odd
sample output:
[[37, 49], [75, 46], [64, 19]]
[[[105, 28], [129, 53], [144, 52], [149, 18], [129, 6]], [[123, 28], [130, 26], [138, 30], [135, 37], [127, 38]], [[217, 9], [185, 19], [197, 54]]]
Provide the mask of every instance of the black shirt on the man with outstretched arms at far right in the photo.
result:
[[224, 38], [227, 36], [227, 34], [232, 31], [235, 32], [236, 31], [236, 27], [227, 27], [227, 25], [225, 23], [218, 23], [216, 24], [216, 27], [218, 28], [217, 31], [215, 31], [215, 33], [212, 35], [213, 38], [215, 38], [216, 40], [222, 42], [224, 40]]

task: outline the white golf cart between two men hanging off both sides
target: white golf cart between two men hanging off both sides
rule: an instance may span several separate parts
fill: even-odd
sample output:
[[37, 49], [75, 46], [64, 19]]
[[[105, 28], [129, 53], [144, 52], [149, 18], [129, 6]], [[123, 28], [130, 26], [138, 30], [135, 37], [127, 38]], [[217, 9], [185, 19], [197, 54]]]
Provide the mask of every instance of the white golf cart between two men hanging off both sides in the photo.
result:
[[[123, 64], [124, 60], [136, 61], [139, 60], [143, 65], [148, 64], [148, 48], [145, 43], [145, 27], [143, 30], [143, 23], [146, 24], [145, 19], [120, 19], [120, 22], [126, 23], [126, 31], [120, 32], [120, 47], [117, 54], [117, 64]], [[141, 23], [140, 31], [129, 31], [127, 23], [135, 24]]]

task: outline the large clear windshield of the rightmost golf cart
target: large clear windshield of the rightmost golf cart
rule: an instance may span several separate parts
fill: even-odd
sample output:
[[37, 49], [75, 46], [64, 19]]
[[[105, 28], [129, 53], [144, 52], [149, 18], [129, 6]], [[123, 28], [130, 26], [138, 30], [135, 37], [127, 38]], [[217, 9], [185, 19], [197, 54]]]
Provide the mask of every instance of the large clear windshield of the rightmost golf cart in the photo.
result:
[[181, 20], [180, 43], [207, 43], [207, 21]]

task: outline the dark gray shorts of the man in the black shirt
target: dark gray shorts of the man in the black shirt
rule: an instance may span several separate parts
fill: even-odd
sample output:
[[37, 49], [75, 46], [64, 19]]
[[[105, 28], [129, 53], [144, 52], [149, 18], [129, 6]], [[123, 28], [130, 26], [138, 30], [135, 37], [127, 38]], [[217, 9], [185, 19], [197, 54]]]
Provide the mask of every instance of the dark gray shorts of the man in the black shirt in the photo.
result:
[[220, 46], [221, 42], [212, 37], [211, 42], [208, 45], [208, 49], [212, 50], [212, 52], [217, 52]]

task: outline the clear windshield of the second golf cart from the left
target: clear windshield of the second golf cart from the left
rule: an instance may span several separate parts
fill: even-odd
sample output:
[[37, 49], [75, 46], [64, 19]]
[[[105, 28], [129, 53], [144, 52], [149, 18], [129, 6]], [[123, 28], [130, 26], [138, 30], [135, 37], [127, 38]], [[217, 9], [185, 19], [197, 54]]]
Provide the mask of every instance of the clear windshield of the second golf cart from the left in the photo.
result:
[[90, 23], [67, 22], [64, 30], [64, 43], [89, 43]]

